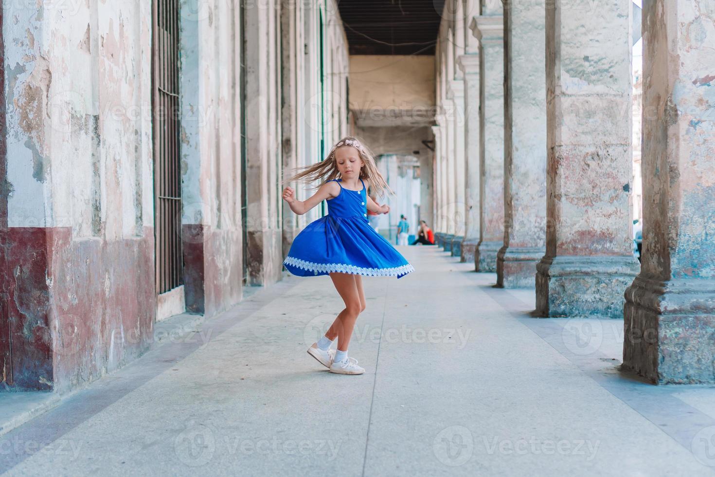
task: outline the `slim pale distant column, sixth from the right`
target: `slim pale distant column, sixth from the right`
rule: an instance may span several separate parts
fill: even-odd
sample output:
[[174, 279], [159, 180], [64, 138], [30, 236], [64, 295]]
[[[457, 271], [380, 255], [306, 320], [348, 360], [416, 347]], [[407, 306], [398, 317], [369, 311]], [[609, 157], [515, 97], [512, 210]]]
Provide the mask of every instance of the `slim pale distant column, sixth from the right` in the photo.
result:
[[[460, 74], [461, 76], [461, 74]], [[450, 85], [454, 104], [453, 135], [450, 139], [454, 144], [454, 197], [453, 217], [454, 237], [451, 252], [453, 257], [462, 256], [462, 240], [464, 240], [464, 81], [455, 79]]]

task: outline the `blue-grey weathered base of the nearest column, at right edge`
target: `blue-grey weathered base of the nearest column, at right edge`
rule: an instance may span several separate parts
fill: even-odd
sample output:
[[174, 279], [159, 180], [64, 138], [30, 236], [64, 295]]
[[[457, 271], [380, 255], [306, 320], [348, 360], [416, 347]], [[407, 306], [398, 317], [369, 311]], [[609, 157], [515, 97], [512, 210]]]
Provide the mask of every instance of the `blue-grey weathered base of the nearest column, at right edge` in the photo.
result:
[[715, 383], [715, 280], [638, 276], [623, 318], [623, 369], [657, 384]]

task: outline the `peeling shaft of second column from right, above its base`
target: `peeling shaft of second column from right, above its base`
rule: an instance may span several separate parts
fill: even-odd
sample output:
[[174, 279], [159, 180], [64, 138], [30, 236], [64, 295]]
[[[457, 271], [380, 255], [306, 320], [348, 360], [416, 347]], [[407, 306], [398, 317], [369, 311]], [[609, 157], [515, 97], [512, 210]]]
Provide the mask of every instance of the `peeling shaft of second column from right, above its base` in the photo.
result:
[[547, 252], [630, 255], [631, 1], [618, 0], [608, 8], [561, 8], [560, 23], [547, 24], [547, 31], [558, 31], [547, 38], [547, 51], [558, 50], [558, 61], [551, 60], [556, 69], [547, 72], [553, 105], [548, 130], [553, 227]]

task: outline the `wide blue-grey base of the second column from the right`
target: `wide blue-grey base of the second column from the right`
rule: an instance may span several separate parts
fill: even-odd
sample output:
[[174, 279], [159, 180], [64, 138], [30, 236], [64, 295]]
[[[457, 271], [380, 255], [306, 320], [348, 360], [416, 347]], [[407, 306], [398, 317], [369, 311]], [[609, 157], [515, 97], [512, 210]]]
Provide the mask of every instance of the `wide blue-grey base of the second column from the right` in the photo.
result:
[[536, 265], [536, 313], [623, 318], [623, 292], [639, 269], [633, 255], [545, 256]]

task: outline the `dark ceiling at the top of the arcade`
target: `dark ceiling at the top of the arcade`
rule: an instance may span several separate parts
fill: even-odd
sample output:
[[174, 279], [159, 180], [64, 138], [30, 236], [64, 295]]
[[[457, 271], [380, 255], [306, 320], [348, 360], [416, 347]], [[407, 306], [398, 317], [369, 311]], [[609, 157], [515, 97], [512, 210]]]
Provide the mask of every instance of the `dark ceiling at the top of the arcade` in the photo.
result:
[[337, 0], [350, 54], [435, 54], [444, 0]]

